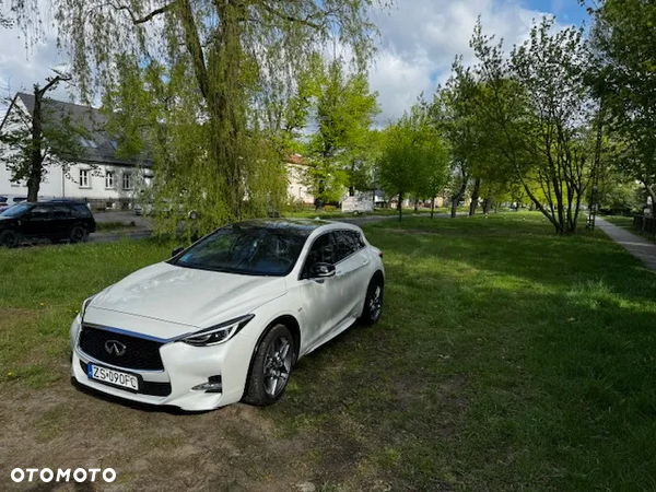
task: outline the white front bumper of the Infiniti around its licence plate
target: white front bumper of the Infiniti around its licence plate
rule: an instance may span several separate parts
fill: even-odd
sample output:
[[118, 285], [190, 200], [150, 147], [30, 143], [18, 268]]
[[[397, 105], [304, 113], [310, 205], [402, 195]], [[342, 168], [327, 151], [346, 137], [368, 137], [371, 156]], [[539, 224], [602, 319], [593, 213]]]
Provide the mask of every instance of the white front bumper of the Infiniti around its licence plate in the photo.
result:
[[[107, 364], [90, 356], [78, 345], [79, 332], [80, 318], [78, 317], [71, 326], [73, 345], [71, 376], [79, 384], [131, 401], [174, 406], [187, 411], [212, 410], [239, 401], [244, 395], [250, 356], [255, 347], [255, 340], [242, 333], [237, 333], [225, 343], [212, 347], [192, 347], [183, 342], [166, 343], [160, 348], [164, 370], [140, 371]], [[90, 378], [84, 368], [90, 362], [137, 375], [145, 384], [141, 389], [148, 387], [145, 391], [151, 394], [131, 393]], [[207, 383], [210, 376], [221, 376], [221, 393], [191, 389]]]

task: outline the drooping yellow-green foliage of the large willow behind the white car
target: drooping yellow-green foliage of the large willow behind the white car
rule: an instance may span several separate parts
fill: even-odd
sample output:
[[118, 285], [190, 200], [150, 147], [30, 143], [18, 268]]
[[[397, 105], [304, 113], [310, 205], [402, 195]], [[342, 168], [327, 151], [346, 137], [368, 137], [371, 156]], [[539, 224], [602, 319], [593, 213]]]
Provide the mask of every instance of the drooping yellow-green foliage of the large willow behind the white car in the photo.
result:
[[[303, 78], [329, 40], [364, 69], [372, 3], [58, 0], [56, 17], [82, 94], [134, 118], [125, 143], [148, 144], [154, 194], [196, 208], [207, 230], [285, 200], [282, 163], [313, 93]], [[128, 114], [133, 97], [142, 114]]]

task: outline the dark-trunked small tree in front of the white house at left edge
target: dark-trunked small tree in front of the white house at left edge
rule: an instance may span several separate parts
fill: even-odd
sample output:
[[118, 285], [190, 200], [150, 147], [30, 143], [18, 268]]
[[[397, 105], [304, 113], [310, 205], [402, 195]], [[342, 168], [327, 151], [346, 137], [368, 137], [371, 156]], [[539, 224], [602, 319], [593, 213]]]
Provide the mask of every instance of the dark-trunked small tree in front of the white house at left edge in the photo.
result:
[[80, 138], [86, 129], [71, 120], [58, 104], [46, 97], [48, 91], [70, 77], [57, 73], [43, 87], [34, 85], [34, 107], [30, 115], [12, 101], [0, 133], [2, 156], [12, 180], [27, 180], [27, 201], [37, 201], [40, 183], [49, 165], [67, 169], [84, 156]]

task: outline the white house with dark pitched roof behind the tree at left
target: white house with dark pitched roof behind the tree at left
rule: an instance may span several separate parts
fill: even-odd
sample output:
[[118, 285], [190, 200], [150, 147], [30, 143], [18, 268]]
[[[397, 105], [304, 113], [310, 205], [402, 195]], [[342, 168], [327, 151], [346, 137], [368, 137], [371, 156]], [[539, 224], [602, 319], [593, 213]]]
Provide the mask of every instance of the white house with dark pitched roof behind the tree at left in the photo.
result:
[[[16, 125], [17, 118], [12, 117], [15, 116], [12, 112], [22, 112], [25, 118], [21, 119], [28, 121], [33, 110], [34, 95], [17, 93], [0, 125], [0, 131], [12, 131], [11, 125]], [[68, 169], [46, 165], [39, 197], [84, 200], [95, 209], [129, 209], [133, 206], [136, 190], [151, 186], [151, 163], [116, 156], [117, 141], [105, 130], [107, 118], [98, 109], [46, 98], [44, 112], [54, 124], [59, 118], [70, 117], [82, 125], [87, 134], [80, 138], [85, 153], [79, 162]], [[26, 183], [12, 181], [12, 177], [0, 154], [0, 195], [27, 196]]]

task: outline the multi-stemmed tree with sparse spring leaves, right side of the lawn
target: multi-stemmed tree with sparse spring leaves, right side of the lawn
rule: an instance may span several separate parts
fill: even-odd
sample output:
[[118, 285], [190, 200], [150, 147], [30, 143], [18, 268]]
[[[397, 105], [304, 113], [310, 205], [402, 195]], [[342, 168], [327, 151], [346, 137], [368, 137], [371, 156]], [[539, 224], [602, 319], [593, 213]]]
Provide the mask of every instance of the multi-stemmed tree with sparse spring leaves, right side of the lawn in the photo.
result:
[[479, 60], [472, 73], [482, 83], [475, 101], [480, 122], [493, 136], [487, 141], [555, 232], [572, 234], [590, 183], [596, 136], [583, 33], [554, 32], [553, 19], [544, 17], [508, 59], [502, 44], [492, 40], [479, 23], [471, 42]]

